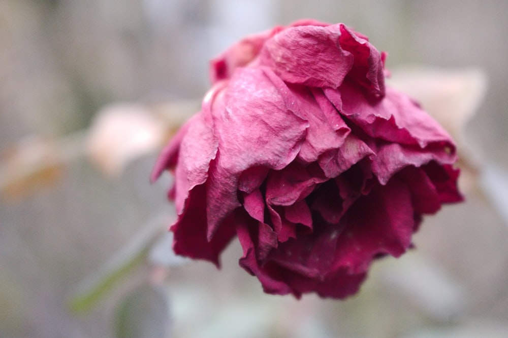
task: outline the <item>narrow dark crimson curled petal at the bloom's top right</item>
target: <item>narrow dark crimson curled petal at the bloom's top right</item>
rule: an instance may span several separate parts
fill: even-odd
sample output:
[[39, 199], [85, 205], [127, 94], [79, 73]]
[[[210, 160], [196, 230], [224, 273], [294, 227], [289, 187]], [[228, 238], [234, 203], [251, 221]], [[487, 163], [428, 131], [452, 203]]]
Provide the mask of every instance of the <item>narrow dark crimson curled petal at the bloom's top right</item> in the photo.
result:
[[371, 99], [385, 95], [385, 74], [382, 54], [372, 46], [366, 36], [340, 24], [340, 46], [353, 54], [355, 62], [347, 77], [367, 90]]

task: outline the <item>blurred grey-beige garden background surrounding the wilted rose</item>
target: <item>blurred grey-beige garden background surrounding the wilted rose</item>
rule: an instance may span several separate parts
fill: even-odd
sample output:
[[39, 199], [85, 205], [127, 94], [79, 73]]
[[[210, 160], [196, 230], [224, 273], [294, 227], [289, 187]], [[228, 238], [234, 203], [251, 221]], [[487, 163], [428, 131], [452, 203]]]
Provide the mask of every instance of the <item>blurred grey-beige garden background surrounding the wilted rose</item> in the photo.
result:
[[[508, 336], [508, 2], [1, 0], [0, 337]], [[208, 61], [300, 18], [389, 53], [394, 86], [456, 137], [466, 203], [344, 302], [271, 296], [170, 252], [157, 152]]]

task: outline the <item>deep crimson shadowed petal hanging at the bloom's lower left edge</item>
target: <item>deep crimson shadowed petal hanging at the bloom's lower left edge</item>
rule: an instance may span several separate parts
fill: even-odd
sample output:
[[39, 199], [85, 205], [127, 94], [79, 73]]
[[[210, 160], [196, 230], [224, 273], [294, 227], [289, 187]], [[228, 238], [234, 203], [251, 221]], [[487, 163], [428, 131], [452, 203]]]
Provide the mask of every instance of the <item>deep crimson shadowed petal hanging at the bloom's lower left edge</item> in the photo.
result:
[[216, 232], [211, 241], [206, 237], [206, 193], [204, 184], [189, 192], [185, 212], [178, 215], [171, 226], [174, 232], [173, 249], [179, 255], [206, 259], [219, 266], [218, 256], [235, 235], [235, 226], [228, 221]]

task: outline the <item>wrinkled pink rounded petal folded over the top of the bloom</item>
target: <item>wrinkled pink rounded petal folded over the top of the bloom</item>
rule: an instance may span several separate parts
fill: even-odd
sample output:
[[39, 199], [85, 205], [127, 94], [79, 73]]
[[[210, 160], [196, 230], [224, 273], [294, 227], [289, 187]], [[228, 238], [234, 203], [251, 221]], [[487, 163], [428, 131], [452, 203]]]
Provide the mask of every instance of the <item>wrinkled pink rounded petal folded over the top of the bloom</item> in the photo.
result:
[[260, 65], [273, 69], [284, 82], [337, 88], [354, 59], [340, 47], [339, 36], [338, 24], [290, 27], [266, 41]]

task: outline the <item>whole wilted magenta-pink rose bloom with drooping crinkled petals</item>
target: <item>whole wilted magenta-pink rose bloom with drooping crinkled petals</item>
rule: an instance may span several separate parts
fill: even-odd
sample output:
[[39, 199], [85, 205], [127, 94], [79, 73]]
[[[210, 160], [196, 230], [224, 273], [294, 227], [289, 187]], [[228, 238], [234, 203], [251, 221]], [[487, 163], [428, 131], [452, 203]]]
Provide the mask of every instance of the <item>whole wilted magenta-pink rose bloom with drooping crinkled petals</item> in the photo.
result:
[[165, 147], [177, 254], [240, 266], [267, 293], [358, 291], [411, 246], [422, 215], [462, 200], [450, 135], [385, 87], [385, 54], [344, 24], [248, 36], [211, 63], [201, 111]]

